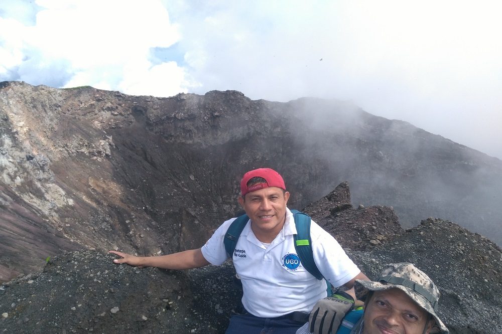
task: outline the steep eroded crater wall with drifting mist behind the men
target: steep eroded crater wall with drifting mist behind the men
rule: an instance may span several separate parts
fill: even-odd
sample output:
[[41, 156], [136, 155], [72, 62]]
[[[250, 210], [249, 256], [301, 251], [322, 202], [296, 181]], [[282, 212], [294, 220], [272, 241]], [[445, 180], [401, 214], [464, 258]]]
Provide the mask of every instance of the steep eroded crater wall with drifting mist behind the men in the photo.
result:
[[500, 160], [337, 101], [4, 82], [0, 166], [1, 281], [66, 250], [200, 247], [260, 166], [282, 173], [291, 208], [349, 181], [356, 205], [392, 206], [404, 227], [435, 216], [502, 240]]

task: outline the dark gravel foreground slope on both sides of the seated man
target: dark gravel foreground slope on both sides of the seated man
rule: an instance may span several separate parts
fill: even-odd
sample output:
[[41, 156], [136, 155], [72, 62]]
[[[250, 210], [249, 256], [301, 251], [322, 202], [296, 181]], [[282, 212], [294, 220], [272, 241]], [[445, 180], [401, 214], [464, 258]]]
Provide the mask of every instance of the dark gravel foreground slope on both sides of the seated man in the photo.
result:
[[[370, 278], [387, 263], [417, 263], [439, 285], [439, 315], [451, 333], [502, 333], [502, 254], [486, 238], [433, 218], [402, 230], [391, 208], [352, 209], [347, 184], [305, 211]], [[230, 263], [165, 271], [114, 265], [113, 258], [65, 253], [1, 285], [0, 332], [224, 332], [239, 299]]]

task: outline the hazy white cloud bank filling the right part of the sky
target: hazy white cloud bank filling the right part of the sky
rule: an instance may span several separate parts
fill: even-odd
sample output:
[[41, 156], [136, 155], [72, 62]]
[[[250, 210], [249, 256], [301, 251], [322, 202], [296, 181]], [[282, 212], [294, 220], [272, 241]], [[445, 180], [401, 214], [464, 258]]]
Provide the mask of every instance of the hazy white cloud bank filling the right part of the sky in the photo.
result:
[[352, 100], [502, 157], [500, 9], [489, 1], [288, 1], [174, 12], [198, 93]]

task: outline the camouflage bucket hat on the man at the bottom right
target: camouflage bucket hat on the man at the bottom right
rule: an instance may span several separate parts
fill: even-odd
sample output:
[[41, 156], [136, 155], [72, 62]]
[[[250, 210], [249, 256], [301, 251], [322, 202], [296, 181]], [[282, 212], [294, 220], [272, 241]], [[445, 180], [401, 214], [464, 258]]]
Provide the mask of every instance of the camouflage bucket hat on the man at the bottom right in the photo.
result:
[[364, 300], [369, 291], [392, 288], [403, 290], [436, 319], [431, 332], [436, 330], [436, 332], [449, 333], [443, 321], [436, 315], [439, 300], [439, 290], [436, 284], [413, 264], [407, 262], [389, 264], [375, 282], [357, 279], [354, 285], [355, 295], [359, 300]]

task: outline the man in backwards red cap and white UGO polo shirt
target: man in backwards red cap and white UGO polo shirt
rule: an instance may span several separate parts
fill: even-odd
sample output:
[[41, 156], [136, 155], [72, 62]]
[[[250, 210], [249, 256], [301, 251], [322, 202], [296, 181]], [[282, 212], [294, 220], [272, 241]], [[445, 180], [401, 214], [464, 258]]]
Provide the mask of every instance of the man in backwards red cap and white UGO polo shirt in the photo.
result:
[[[232, 260], [242, 282], [243, 314], [230, 319], [226, 333], [295, 333], [305, 315], [326, 297], [326, 283], [310, 274], [296, 254], [293, 214], [286, 207], [289, 193], [283, 178], [272, 169], [247, 172], [240, 183], [238, 202], [249, 221], [237, 240]], [[232, 218], [224, 222], [202, 248], [155, 256], [136, 257], [110, 251], [115, 263], [191, 269], [228, 259], [223, 239]], [[333, 286], [352, 289], [356, 279], [369, 280], [348, 258], [338, 242], [315, 222], [310, 230], [314, 262]], [[343, 317], [343, 315], [341, 315]], [[335, 324], [336, 325], [336, 324]]]

